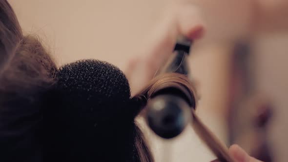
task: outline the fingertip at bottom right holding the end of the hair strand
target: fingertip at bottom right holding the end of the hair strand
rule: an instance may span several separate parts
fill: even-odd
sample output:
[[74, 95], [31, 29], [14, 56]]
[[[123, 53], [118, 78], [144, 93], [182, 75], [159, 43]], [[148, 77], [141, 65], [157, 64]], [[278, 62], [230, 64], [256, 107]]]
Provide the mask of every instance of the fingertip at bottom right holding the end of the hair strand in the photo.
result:
[[[236, 160], [236, 162], [262, 162], [253, 157], [250, 157], [241, 147], [234, 144], [229, 148], [230, 155]], [[212, 161], [220, 162], [220, 161]]]

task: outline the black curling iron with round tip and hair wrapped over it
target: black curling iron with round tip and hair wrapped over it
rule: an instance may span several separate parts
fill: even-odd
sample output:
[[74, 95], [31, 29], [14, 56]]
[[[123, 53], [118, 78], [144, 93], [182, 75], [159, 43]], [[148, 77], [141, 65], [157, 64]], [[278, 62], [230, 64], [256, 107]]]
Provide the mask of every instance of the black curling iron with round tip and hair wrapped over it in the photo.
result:
[[167, 79], [151, 88], [153, 94], [146, 105], [148, 125], [158, 136], [165, 139], [174, 138], [185, 129], [191, 120], [191, 108], [196, 107], [193, 92], [187, 88], [187, 84], [181, 83], [183, 78], [188, 80], [189, 68], [186, 58], [190, 44], [191, 42], [178, 41], [172, 58], [157, 72], [158, 76], [179, 74], [182, 79]]

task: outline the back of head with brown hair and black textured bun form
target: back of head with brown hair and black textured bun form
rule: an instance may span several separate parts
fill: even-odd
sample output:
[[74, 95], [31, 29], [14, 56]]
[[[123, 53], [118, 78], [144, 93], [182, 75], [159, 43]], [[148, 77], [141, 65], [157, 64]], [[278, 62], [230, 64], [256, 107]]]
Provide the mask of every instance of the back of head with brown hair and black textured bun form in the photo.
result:
[[151, 162], [137, 107], [115, 66], [80, 61], [57, 70], [0, 0], [1, 162]]

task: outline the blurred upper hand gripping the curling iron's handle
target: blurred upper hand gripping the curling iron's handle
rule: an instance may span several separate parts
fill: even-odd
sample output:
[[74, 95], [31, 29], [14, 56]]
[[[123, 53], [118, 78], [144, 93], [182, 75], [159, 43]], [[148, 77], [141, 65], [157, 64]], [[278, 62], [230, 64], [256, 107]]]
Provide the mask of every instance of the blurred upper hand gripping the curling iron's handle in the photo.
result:
[[145, 87], [169, 58], [179, 35], [191, 40], [202, 37], [204, 27], [201, 20], [199, 11], [190, 3], [167, 7], [162, 19], [144, 44], [141, 44], [140, 57], [130, 61], [125, 71], [132, 96]]

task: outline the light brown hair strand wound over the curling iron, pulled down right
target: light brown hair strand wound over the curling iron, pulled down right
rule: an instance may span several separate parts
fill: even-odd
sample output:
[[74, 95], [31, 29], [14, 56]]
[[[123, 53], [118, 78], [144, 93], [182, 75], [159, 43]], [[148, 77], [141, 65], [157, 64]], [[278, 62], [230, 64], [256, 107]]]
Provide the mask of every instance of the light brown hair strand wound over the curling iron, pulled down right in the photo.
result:
[[[193, 83], [187, 78], [186, 75], [179, 73], [166, 73], [158, 75], [152, 81], [150, 81], [142, 91], [136, 94], [134, 98], [142, 102], [144, 108], [156, 90], [165, 85], [185, 88], [190, 93], [190, 96], [197, 98]], [[195, 104], [195, 108], [196, 106], [197, 104]], [[191, 115], [193, 116], [192, 127], [199, 138], [207, 145], [218, 160], [221, 162], [234, 162], [233, 158], [228, 154], [226, 146], [206, 127], [206, 125], [197, 116], [195, 110], [193, 108], [191, 108], [191, 110]]]

